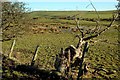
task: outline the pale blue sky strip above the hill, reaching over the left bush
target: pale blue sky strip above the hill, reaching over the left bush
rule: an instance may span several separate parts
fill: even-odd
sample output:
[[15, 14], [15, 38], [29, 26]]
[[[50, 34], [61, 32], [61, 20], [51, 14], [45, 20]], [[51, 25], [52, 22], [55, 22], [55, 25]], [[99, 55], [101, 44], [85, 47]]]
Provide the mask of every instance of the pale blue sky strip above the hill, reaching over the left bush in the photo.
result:
[[[15, 1], [15, 0], [14, 0]], [[16, 0], [25, 2], [31, 11], [69, 11], [69, 10], [94, 10], [89, 0]], [[98, 11], [116, 10], [117, 0], [91, 0]], [[89, 6], [88, 6], [89, 5]], [[86, 8], [86, 6], [88, 6]]]

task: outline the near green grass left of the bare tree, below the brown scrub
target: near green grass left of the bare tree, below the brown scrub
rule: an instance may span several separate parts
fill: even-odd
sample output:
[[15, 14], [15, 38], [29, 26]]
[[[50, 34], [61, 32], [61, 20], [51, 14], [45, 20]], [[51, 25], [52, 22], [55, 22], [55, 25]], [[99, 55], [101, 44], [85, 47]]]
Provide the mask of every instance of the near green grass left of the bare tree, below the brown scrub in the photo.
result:
[[[72, 40], [73, 40], [73, 35], [68, 33], [27, 34], [22, 36], [22, 38], [17, 39], [14, 51], [20, 52], [20, 55], [23, 56], [21, 59], [23, 63], [25, 62], [30, 63], [36, 46], [40, 45], [40, 50], [38, 55], [41, 56], [41, 58], [38, 58], [38, 59], [46, 62], [46, 63], [42, 62], [43, 64], [49, 65], [47, 61], [48, 60], [52, 61], [52, 64], [53, 64], [55, 55], [59, 53], [60, 48], [62, 47], [65, 48], [69, 46]], [[3, 43], [4, 53], [9, 53], [11, 43], [12, 41]], [[54, 59], [52, 58], [52, 56], [54, 56]], [[29, 58], [29, 60], [27, 60], [26, 58]], [[50, 67], [53, 67], [53, 65], [51, 65]], [[49, 67], [46, 67], [46, 68], [49, 69]]]

